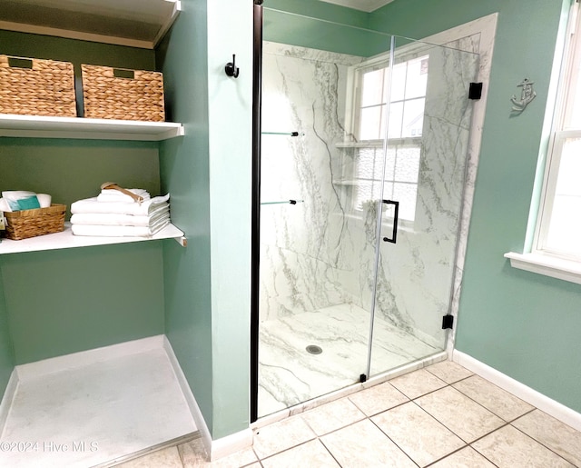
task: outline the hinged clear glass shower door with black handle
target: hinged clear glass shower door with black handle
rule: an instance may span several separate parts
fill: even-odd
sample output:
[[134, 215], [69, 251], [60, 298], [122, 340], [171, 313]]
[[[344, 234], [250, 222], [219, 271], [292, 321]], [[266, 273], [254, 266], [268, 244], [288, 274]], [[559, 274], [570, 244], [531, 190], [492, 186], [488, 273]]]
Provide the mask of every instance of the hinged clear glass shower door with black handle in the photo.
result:
[[368, 375], [446, 347], [478, 75], [477, 54], [401, 38], [392, 50]]

